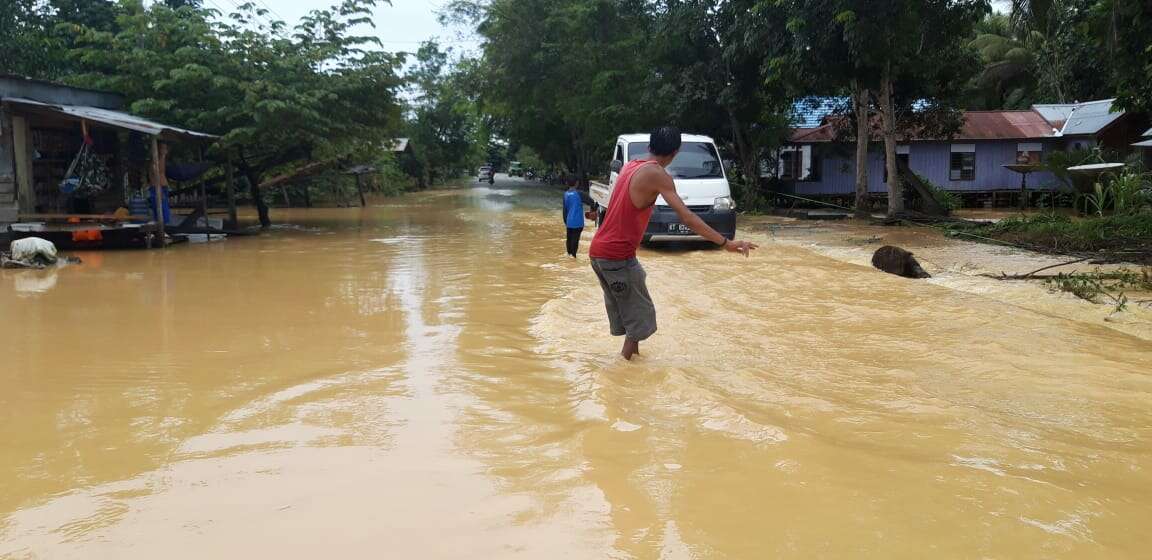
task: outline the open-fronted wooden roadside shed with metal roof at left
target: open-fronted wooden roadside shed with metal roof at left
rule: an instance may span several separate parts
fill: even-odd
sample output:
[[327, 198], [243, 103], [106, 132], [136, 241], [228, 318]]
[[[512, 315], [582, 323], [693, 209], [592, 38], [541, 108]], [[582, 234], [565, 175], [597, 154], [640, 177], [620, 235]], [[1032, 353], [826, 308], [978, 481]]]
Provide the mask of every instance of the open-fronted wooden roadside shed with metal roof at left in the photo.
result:
[[[217, 137], [120, 111], [116, 93], [0, 76], [0, 227], [17, 221], [113, 221], [164, 228], [164, 145]], [[160, 199], [157, 199], [160, 198]], [[127, 209], [126, 213], [118, 209]], [[127, 215], [126, 215], [127, 214]], [[137, 236], [138, 237], [138, 236]], [[84, 240], [81, 240], [84, 241]]]

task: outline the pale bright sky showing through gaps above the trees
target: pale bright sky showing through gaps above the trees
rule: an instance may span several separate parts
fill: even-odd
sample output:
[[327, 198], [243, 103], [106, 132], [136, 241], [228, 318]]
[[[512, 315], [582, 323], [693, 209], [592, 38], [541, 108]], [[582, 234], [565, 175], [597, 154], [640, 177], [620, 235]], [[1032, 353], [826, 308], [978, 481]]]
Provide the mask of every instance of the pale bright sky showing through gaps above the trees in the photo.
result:
[[[340, 0], [204, 0], [204, 6], [230, 13], [245, 1], [257, 7], [263, 5], [271, 12], [271, 18], [281, 20], [290, 28], [309, 12], [327, 8]], [[476, 48], [479, 39], [470, 30], [445, 28], [437, 21], [437, 12], [444, 5], [444, 0], [392, 0], [388, 6], [381, 0], [373, 14], [376, 29], [365, 32], [379, 37], [384, 50], [392, 52], [415, 52], [420, 41], [432, 38], [457, 51]]]

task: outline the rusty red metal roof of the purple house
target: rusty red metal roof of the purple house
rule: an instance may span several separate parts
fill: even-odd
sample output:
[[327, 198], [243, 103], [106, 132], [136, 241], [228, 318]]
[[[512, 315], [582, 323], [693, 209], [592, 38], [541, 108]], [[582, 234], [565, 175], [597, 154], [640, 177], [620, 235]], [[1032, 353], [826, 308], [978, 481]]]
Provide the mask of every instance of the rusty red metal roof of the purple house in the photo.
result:
[[[826, 118], [824, 123], [816, 128], [797, 128], [793, 130], [789, 142], [814, 143], [834, 142], [836, 139], [835, 123]], [[873, 135], [878, 130], [878, 122], [873, 124]], [[964, 126], [952, 139], [1023, 139], [1023, 138], [1046, 138], [1053, 135], [1053, 126], [1036, 111], [965, 111]], [[925, 141], [940, 138], [901, 138], [907, 141]]]

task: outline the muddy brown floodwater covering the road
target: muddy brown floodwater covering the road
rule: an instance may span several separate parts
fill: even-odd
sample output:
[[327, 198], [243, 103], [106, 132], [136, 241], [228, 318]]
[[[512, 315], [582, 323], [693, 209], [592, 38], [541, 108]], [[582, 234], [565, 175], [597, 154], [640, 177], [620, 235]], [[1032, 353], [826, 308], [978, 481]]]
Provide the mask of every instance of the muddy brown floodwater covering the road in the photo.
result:
[[761, 235], [622, 363], [559, 199], [2, 271], [0, 557], [1147, 558], [1147, 340]]

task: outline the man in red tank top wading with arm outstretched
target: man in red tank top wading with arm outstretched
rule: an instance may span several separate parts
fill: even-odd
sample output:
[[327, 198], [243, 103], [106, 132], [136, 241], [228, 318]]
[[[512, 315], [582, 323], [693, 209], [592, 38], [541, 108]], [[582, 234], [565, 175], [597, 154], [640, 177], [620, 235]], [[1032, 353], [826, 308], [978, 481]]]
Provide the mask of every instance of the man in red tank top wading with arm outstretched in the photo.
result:
[[658, 196], [676, 211], [682, 224], [725, 250], [746, 257], [748, 251], [756, 249], [746, 241], [729, 241], [684, 206], [672, 175], [664, 171], [679, 151], [679, 128], [660, 127], [652, 131], [647, 157], [629, 161], [620, 169], [608, 211], [589, 249], [592, 270], [604, 289], [612, 335], [624, 336], [624, 347], [620, 349], [624, 360], [638, 354], [641, 341], [655, 333], [655, 307], [645, 285], [647, 274], [636, 260], [636, 249], [644, 239]]

